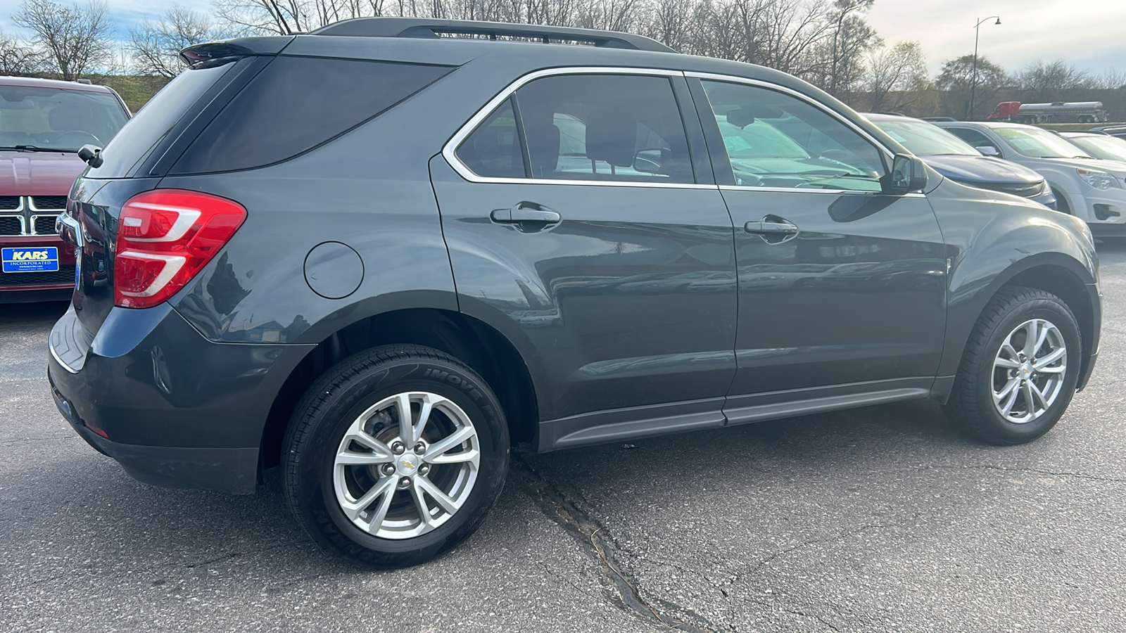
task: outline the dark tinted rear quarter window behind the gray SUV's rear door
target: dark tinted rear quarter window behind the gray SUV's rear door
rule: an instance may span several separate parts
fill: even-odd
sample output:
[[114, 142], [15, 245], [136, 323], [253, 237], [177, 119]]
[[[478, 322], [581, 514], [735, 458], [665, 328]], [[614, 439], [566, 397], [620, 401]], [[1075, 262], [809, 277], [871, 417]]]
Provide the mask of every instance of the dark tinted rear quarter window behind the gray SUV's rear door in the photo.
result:
[[450, 70], [279, 56], [223, 108], [169, 173], [234, 171], [293, 158], [378, 115]]

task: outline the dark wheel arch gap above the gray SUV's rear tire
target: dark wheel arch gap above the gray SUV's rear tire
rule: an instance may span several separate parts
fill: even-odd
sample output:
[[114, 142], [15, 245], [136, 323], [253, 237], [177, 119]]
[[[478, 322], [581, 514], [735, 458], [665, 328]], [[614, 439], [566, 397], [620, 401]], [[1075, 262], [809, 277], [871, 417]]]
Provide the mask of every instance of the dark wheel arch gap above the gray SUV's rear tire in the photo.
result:
[[[512, 323], [501, 331], [486, 322], [447, 307], [399, 307], [369, 313], [357, 302], [333, 313], [334, 328], [310, 327], [320, 340], [289, 372], [263, 420], [260, 437], [260, 466], [278, 463], [282, 442], [291, 413], [305, 391], [330, 367], [359, 351], [394, 344], [413, 344], [444, 351], [482, 375], [501, 400], [513, 443], [531, 443], [538, 430], [536, 376], [542, 369], [535, 355], [528, 355], [526, 337]], [[348, 318], [342, 318], [348, 314]], [[328, 318], [325, 319], [325, 321]], [[511, 323], [511, 320], [508, 320]], [[502, 324], [503, 327], [503, 324]], [[515, 333], [518, 337], [512, 337]], [[525, 345], [512, 338], [522, 338]]]

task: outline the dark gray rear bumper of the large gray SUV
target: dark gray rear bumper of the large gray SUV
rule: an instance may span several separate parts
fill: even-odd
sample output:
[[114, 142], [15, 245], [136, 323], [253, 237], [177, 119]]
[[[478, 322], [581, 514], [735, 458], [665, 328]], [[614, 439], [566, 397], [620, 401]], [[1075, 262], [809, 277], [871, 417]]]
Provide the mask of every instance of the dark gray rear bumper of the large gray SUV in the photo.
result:
[[133, 478], [251, 493], [278, 389], [309, 346], [215, 344], [167, 304], [114, 309], [96, 336], [73, 307], [51, 332], [60, 412]]

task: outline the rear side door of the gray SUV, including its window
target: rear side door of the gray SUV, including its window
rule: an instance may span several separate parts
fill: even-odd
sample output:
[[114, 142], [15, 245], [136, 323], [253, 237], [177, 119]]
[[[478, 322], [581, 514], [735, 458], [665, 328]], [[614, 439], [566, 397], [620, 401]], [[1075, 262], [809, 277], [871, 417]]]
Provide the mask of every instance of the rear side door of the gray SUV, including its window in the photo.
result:
[[540, 72], [431, 160], [461, 309], [528, 363], [540, 448], [723, 424], [732, 224], [685, 102], [681, 73]]

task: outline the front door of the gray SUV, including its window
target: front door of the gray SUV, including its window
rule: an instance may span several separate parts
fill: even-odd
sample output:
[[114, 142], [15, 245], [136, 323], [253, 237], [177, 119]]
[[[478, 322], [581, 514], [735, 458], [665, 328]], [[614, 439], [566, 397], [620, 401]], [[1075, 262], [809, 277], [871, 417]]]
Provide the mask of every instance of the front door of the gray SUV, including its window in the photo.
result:
[[890, 154], [812, 99], [689, 81], [735, 224], [729, 419], [795, 401], [924, 394], [941, 354], [947, 271], [927, 198], [882, 194]]

